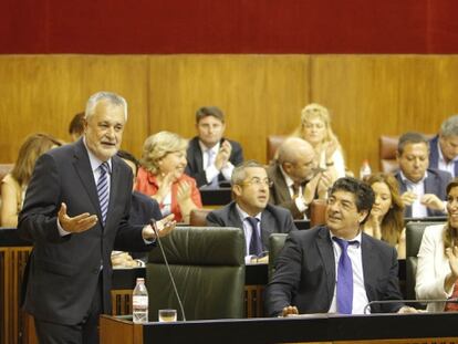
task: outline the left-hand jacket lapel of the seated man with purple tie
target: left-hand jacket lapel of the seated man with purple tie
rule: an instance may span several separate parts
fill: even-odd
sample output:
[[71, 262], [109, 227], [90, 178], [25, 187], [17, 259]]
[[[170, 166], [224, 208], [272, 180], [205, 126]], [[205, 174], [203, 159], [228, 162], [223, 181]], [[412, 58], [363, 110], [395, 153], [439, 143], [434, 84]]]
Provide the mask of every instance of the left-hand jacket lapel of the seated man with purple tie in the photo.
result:
[[335, 258], [329, 229], [326, 227], [321, 227], [316, 238], [316, 246], [326, 272], [326, 289], [329, 302], [331, 304], [335, 286]]

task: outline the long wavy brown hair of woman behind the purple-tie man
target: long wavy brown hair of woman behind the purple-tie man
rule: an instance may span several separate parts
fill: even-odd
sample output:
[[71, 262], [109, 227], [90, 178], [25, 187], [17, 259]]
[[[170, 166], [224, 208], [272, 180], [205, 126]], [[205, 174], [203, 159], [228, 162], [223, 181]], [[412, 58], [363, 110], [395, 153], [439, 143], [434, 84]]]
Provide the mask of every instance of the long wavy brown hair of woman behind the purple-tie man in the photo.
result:
[[399, 195], [397, 181], [392, 175], [378, 173], [371, 175], [366, 183], [369, 186], [375, 183], [383, 183], [388, 187], [389, 194], [392, 194], [392, 207], [383, 217], [381, 225], [382, 240], [396, 246], [404, 229], [404, 204]]

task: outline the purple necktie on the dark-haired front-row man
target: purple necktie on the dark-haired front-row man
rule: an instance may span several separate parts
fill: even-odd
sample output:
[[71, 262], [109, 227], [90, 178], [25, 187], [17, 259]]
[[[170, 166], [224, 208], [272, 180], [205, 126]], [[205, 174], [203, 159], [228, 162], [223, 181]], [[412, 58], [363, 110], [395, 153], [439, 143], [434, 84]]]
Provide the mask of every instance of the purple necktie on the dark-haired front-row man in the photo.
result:
[[337, 265], [337, 312], [341, 314], [352, 314], [353, 307], [353, 268], [350, 260], [348, 244], [357, 241], [346, 241], [340, 238], [332, 238], [342, 249]]

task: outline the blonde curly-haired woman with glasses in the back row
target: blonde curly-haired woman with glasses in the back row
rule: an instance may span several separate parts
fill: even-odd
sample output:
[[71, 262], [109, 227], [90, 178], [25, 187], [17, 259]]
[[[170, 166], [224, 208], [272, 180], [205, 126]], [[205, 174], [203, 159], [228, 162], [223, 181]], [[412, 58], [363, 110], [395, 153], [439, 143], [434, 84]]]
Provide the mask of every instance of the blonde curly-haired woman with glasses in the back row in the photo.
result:
[[331, 128], [327, 108], [315, 103], [306, 105], [302, 110], [301, 126], [292, 136], [301, 137], [313, 146], [319, 158], [319, 166], [327, 168], [334, 180], [345, 177], [342, 147]]

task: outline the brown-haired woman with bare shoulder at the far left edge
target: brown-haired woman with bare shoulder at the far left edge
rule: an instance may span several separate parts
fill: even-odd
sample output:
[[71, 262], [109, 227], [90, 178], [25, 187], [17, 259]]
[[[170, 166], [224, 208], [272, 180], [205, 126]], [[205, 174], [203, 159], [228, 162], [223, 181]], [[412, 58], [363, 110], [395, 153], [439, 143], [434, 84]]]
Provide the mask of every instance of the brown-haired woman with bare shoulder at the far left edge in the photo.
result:
[[21, 145], [14, 167], [1, 180], [1, 227], [18, 227], [18, 215], [22, 209], [25, 189], [40, 155], [61, 143], [48, 134], [32, 134]]

